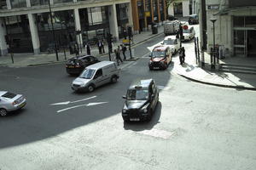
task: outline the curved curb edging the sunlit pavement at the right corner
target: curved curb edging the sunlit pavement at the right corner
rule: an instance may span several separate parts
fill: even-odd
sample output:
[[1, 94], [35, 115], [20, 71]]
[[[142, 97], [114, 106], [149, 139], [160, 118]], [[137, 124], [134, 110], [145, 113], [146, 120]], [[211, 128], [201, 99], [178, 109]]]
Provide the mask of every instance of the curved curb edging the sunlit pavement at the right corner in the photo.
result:
[[247, 90], [253, 90], [253, 91], [256, 91], [256, 88], [249, 88], [249, 87], [244, 87], [244, 86], [232, 86], [232, 85], [226, 85], [226, 84], [218, 84], [218, 83], [215, 83], [215, 82], [206, 82], [206, 81], [201, 81], [201, 80], [198, 80], [198, 79], [195, 79], [195, 78], [192, 78], [192, 77], [188, 77], [188, 76], [185, 76], [183, 74], [180, 74], [177, 72], [177, 74], [181, 77], [184, 77], [190, 81], [193, 81], [193, 82], [200, 82], [200, 83], [203, 83], [203, 84], [208, 84], [208, 85], [212, 85], [212, 86], [217, 86], [217, 87], [221, 87], [221, 88], [236, 88], [236, 89], [247, 89]]

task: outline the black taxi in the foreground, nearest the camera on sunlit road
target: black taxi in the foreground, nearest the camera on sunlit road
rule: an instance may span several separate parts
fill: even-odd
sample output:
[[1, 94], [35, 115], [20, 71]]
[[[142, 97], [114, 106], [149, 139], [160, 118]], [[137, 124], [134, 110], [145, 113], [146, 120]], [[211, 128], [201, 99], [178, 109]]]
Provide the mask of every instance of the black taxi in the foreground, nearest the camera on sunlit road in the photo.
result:
[[125, 122], [150, 121], [159, 101], [159, 90], [153, 79], [137, 79], [123, 96], [122, 116]]

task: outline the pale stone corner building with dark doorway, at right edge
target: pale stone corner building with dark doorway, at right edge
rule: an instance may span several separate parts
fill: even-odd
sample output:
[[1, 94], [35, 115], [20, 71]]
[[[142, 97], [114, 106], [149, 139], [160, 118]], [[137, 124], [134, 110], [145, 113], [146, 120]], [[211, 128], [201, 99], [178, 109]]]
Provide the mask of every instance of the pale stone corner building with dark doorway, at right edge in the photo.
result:
[[[205, 41], [208, 51], [213, 47], [213, 24], [210, 19], [214, 18], [215, 44], [218, 47], [228, 51], [231, 56], [256, 57], [256, 1], [207, 0], [206, 15]], [[203, 41], [201, 38], [201, 44]]]

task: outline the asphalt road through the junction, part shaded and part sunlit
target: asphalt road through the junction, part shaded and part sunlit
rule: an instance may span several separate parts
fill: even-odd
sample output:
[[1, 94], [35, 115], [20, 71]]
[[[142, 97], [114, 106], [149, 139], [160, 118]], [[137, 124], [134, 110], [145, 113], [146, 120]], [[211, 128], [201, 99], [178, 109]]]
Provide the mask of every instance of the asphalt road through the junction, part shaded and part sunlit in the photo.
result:
[[[121, 65], [119, 82], [90, 94], [73, 93], [62, 64], [0, 67], [0, 89], [27, 99], [0, 117], [0, 169], [254, 169], [256, 93], [191, 82], [173, 63], [148, 71], [147, 48], [162, 38], [137, 46], [141, 59]], [[137, 77], [155, 79], [160, 102], [151, 122], [126, 124], [122, 95]]]

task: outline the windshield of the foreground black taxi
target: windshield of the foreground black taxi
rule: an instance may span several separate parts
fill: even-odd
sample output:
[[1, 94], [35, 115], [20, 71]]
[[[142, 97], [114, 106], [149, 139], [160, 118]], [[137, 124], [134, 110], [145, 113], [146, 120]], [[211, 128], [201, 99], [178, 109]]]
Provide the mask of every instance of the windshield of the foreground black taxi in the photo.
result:
[[148, 89], [131, 89], [127, 91], [128, 100], [148, 99]]

